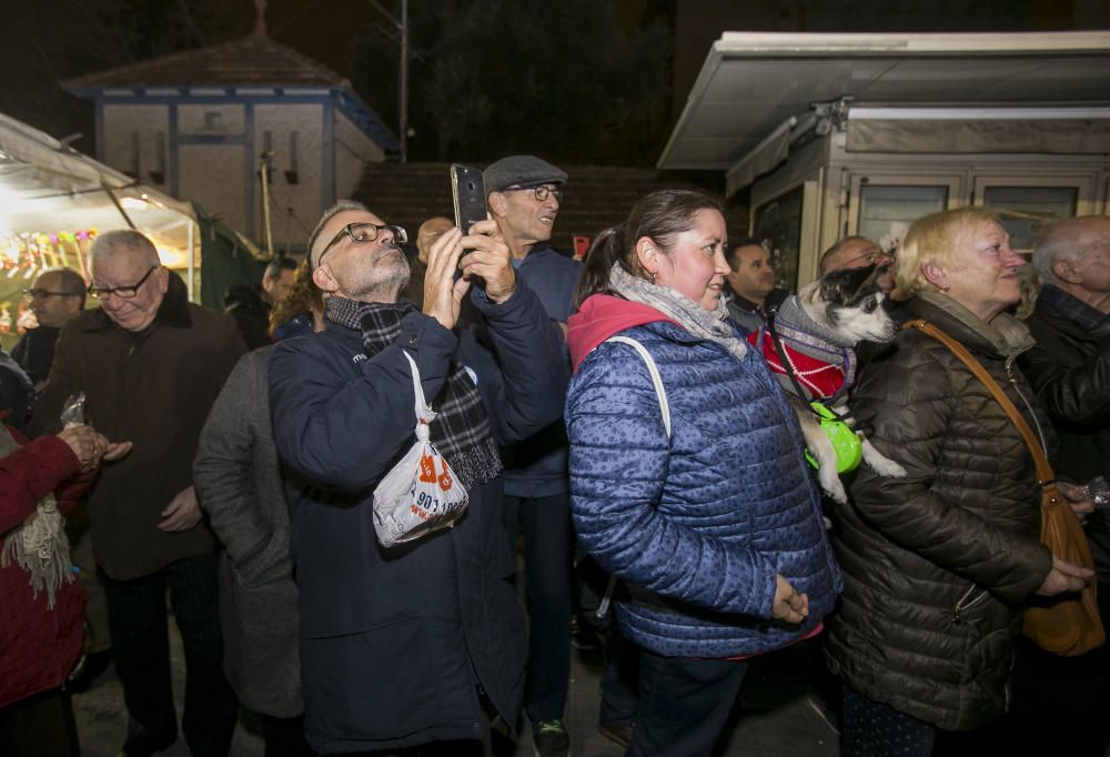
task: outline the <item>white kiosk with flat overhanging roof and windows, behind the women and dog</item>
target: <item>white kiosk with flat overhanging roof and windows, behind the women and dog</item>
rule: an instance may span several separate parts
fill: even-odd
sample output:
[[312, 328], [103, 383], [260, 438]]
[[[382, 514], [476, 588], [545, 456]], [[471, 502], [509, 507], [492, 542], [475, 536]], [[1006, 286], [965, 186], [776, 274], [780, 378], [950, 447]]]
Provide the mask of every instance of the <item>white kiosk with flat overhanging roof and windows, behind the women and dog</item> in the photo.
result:
[[992, 209], [1028, 252], [1110, 211], [1110, 32], [726, 32], [657, 166], [749, 191], [790, 289], [838, 239], [895, 246], [950, 208]]

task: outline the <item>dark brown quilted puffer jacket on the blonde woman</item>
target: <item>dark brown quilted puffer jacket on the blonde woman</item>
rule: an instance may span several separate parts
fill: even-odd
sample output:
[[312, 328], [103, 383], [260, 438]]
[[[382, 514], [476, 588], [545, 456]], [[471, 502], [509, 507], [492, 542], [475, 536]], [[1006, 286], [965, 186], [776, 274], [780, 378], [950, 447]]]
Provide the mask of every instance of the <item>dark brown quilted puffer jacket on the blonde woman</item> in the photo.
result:
[[[962, 342], [1026, 413], [987, 340], [928, 303], [914, 301], [910, 312]], [[1006, 707], [1020, 604], [1051, 564], [1038, 541], [1032, 460], [988, 390], [919, 332], [899, 334], [868, 365], [852, 410], [907, 476], [862, 467], [851, 504], [837, 511], [845, 592], [829, 664], [901, 713], [951, 730], [982, 726]]]

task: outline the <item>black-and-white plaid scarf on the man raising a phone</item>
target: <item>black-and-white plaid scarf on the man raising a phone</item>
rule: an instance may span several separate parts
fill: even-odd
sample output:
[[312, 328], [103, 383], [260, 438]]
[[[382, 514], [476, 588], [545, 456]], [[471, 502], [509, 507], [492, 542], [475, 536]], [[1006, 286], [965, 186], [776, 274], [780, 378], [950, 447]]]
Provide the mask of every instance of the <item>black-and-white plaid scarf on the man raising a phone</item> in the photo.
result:
[[[393, 344], [401, 336], [402, 319], [418, 312], [416, 305], [407, 301], [364, 303], [336, 296], [327, 299], [327, 317], [361, 331], [367, 357]], [[503, 466], [482, 395], [467, 369], [454, 357], [443, 388], [428, 405], [437, 407], [435, 420], [428, 426], [432, 443], [465, 488], [501, 475]], [[414, 417], [414, 426], [415, 423]]]

